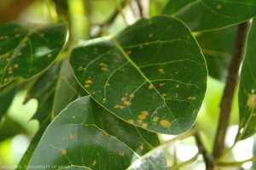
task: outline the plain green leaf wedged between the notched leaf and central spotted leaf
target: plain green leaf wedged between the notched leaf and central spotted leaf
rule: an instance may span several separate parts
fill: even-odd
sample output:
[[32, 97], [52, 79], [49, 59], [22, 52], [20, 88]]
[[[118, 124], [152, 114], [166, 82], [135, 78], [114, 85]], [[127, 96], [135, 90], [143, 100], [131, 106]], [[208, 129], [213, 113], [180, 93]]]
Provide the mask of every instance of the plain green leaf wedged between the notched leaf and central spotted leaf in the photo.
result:
[[53, 116], [57, 116], [73, 100], [88, 95], [73, 76], [73, 70], [68, 58], [61, 65], [60, 77], [55, 90]]

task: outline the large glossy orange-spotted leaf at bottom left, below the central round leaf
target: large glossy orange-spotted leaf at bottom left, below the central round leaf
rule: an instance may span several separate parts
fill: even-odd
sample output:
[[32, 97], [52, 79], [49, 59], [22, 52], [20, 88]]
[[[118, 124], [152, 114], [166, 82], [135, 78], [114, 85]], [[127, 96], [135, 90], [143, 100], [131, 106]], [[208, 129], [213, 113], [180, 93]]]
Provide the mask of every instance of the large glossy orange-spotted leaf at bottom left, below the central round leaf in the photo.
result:
[[157, 144], [155, 133], [123, 122], [86, 96], [50, 123], [29, 166], [125, 169]]

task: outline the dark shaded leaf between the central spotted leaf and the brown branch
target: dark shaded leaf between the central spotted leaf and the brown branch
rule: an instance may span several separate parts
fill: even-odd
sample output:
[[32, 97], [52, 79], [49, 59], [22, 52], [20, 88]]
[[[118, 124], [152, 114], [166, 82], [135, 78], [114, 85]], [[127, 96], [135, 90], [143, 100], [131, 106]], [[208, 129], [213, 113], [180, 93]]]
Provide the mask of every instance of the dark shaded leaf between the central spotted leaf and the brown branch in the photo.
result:
[[203, 32], [196, 37], [207, 59], [209, 75], [223, 82], [228, 76], [236, 32], [237, 26], [230, 26], [218, 31]]

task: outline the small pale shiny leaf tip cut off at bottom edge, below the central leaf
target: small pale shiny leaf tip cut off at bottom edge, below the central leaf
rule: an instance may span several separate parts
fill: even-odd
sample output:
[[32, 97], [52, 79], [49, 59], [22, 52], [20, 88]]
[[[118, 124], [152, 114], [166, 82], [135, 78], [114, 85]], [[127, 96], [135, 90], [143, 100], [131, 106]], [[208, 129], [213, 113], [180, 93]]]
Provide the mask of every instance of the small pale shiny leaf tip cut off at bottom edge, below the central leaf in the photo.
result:
[[[144, 156], [143, 156], [144, 157]], [[166, 165], [166, 156], [163, 150], [155, 150], [149, 156], [145, 156], [143, 160], [135, 161], [130, 168], [131, 170], [144, 170], [144, 169], [168, 169]]]

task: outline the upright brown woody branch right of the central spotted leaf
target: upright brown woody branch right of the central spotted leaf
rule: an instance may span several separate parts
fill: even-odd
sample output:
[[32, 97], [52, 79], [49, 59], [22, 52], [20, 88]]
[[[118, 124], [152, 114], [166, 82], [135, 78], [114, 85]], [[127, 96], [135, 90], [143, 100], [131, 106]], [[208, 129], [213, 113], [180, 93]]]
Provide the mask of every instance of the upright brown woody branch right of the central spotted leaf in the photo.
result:
[[219, 116], [218, 131], [216, 133], [213, 148], [213, 156], [216, 158], [223, 154], [224, 139], [230, 122], [230, 111], [237, 82], [239, 81], [239, 70], [244, 58], [249, 26], [250, 21], [241, 23], [237, 31], [235, 47], [230, 63], [229, 75], [227, 77], [226, 86], [224, 88], [224, 95], [220, 104], [221, 113]]

